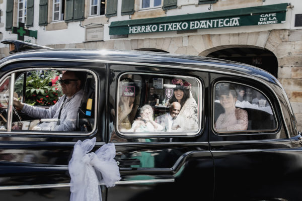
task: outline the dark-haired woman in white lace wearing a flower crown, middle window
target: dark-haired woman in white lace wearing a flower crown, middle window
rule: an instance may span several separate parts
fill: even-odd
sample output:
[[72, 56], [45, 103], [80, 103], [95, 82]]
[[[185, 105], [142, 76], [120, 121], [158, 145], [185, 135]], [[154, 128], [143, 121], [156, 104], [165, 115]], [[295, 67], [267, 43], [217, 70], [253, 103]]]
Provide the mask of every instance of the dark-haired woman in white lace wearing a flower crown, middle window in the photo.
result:
[[191, 84], [183, 79], [173, 79], [172, 84], [176, 85], [174, 95], [169, 100], [169, 103], [178, 102], [181, 105], [179, 116], [185, 120], [183, 131], [198, 130], [198, 106], [190, 91]]

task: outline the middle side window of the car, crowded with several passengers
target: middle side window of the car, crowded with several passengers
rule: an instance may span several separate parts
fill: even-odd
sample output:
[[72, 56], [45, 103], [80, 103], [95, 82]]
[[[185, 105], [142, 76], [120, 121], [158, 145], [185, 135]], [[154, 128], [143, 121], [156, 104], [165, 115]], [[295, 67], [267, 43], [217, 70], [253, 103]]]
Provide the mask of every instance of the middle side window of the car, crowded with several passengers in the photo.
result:
[[118, 81], [117, 129], [124, 135], [196, 134], [200, 91], [193, 77], [124, 74]]

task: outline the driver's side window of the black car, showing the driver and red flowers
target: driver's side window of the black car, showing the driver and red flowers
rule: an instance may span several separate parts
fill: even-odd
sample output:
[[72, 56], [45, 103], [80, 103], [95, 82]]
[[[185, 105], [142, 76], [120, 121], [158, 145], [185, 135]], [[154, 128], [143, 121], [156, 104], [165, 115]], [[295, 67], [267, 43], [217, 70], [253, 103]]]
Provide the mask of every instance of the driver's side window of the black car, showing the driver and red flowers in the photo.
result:
[[[62, 131], [90, 133], [94, 129], [95, 75], [84, 70], [50, 69], [14, 74], [12, 131], [62, 134]], [[6, 81], [4, 88], [5, 85]], [[2, 102], [8, 103], [4, 99]], [[7, 117], [8, 110], [4, 107], [3, 111], [3, 116]]]

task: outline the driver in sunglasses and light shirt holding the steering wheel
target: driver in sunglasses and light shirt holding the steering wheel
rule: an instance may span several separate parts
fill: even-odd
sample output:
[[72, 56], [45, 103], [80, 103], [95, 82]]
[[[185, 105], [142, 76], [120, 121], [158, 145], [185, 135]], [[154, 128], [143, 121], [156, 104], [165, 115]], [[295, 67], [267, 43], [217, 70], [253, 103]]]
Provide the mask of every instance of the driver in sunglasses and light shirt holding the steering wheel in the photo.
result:
[[83, 72], [65, 71], [62, 78], [59, 79], [64, 95], [48, 109], [21, 103], [17, 98], [14, 98], [14, 106], [20, 108], [22, 113], [30, 117], [52, 119], [50, 122], [40, 123], [33, 130], [74, 131], [78, 109], [83, 97], [81, 77], [83, 77]]

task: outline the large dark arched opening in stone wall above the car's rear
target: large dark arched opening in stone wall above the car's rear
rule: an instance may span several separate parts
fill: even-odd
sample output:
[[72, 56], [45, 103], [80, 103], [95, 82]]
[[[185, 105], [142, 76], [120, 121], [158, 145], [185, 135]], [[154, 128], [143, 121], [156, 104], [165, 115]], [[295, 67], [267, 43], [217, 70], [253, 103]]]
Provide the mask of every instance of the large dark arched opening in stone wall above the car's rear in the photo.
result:
[[207, 56], [250, 64], [270, 72], [275, 77], [278, 75], [277, 58], [267, 49], [249, 46], [215, 49], [216, 51]]

